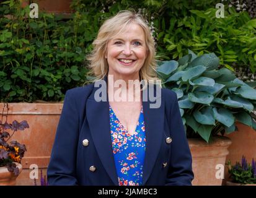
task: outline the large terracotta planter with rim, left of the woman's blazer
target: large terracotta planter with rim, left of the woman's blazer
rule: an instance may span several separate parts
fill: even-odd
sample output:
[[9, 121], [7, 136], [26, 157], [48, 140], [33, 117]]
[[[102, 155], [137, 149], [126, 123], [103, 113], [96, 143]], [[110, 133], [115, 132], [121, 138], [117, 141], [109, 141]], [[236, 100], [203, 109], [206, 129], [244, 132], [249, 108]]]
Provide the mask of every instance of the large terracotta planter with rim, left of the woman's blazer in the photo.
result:
[[[0, 110], [2, 107], [3, 103], [0, 103]], [[26, 120], [29, 124], [29, 129], [15, 132], [10, 139], [27, 147], [17, 185], [34, 185], [34, 179], [30, 179], [30, 165], [39, 168], [37, 184], [40, 184], [40, 170], [46, 174], [62, 107], [63, 103], [9, 103], [8, 122]]]

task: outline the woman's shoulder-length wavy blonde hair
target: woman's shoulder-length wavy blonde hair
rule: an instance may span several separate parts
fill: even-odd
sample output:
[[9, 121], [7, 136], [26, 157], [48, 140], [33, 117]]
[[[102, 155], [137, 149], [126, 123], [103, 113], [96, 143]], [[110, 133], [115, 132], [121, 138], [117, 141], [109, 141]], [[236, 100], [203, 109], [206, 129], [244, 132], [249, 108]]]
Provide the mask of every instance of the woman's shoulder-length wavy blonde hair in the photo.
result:
[[99, 29], [97, 38], [92, 43], [94, 49], [92, 53], [87, 56], [87, 60], [90, 61], [89, 67], [91, 69], [89, 75], [95, 76], [92, 82], [104, 79], [108, 73], [108, 62], [107, 59], [105, 59], [108, 41], [120, 33], [127, 25], [132, 23], [138, 24], [143, 28], [148, 51], [143, 67], [141, 67], [139, 71], [140, 80], [145, 81], [144, 87], [148, 85], [149, 80], [154, 80], [154, 83], [155, 80], [158, 80], [156, 75], [156, 49], [149, 26], [146, 24], [141, 14], [136, 14], [134, 11], [120, 11], [117, 15], [105, 20], [104, 24], [102, 24]]

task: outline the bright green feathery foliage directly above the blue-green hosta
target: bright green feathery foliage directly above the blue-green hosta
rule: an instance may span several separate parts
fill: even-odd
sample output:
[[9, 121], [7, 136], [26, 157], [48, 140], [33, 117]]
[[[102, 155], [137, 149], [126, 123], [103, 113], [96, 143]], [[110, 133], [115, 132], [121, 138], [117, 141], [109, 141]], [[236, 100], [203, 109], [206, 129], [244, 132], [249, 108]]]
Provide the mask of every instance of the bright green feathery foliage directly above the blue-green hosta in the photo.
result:
[[234, 8], [226, 9], [224, 19], [216, 18], [215, 13], [212, 6], [206, 11], [192, 9], [185, 17], [170, 16], [173, 25], [162, 33], [164, 49], [174, 59], [181, 58], [187, 48], [200, 55], [214, 51], [228, 69], [250, 66], [255, 72], [256, 20]]

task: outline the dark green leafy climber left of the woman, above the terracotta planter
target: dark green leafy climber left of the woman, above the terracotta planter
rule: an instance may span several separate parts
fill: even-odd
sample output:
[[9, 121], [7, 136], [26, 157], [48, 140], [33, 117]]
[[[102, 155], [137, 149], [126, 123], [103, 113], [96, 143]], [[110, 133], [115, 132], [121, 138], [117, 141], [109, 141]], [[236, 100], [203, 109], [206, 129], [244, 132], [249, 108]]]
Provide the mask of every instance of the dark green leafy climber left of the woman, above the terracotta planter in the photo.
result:
[[19, 1], [0, 5], [0, 100], [60, 101], [67, 89], [84, 84], [84, 59], [97, 31], [86, 15], [64, 20], [39, 12], [31, 19]]

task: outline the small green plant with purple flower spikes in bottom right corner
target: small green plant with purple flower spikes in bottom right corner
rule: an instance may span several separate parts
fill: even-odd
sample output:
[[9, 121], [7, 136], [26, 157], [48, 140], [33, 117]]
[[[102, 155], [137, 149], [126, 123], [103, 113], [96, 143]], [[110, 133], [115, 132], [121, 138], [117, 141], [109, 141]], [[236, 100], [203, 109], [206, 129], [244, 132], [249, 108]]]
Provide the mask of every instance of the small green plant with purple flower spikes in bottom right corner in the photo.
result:
[[245, 157], [242, 157], [242, 161], [236, 162], [236, 165], [231, 165], [229, 160], [227, 163], [229, 178], [232, 182], [239, 184], [256, 184], [256, 165], [254, 159], [252, 164], [248, 164]]

